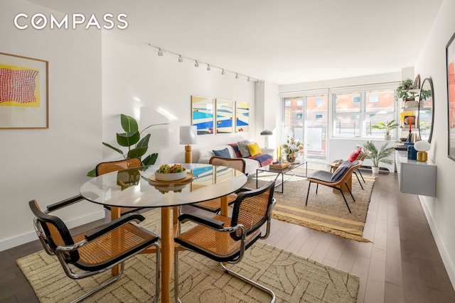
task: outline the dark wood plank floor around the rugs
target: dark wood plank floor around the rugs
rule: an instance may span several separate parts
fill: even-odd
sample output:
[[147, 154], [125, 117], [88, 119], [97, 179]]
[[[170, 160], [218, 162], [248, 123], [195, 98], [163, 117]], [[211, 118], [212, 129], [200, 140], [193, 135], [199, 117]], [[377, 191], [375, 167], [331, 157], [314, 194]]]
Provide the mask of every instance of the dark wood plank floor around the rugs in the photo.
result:
[[[266, 242], [358, 275], [358, 302], [455, 302], [419, 199], [400, 193], [393, 173], [380, 173], [375, 182], [364, 236], [373, 243], [274, 220]], [[38, 302], [16, 265], [16, 259], [38, 250], [41, 244], [33, 241], [0, 252], [0, 303]]]

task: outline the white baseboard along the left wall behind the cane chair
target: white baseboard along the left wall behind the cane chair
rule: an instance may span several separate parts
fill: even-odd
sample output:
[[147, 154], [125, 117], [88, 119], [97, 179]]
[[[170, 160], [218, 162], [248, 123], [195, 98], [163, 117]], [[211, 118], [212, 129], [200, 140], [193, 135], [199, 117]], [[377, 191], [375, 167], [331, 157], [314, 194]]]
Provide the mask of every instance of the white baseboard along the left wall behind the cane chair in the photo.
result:
[[[66, 222], [68, 228], [74, 228], [77, 226], [81, 226], [93, 221], [97, 221], [100, 219], [104, 219], [106, 216], [106, 213], [104, 210], [97, 211], [92, 214], [88, 214], [87, 216], [81, 216], [79, 218], [70, 220]], [[31, 224], [32, 225], [32, 224]], [[7, 250], [9, 248], [14, 248], [16, 246], [20, 246], [22, 244], [38, 240], [38, 236], [36, 236], [36, 232], [30, 231], [28, 233], [23, 233], [20, 236], [16, 236], [14, 238], [9, 238], [4, 241], [0, 241], [0, 251]]]

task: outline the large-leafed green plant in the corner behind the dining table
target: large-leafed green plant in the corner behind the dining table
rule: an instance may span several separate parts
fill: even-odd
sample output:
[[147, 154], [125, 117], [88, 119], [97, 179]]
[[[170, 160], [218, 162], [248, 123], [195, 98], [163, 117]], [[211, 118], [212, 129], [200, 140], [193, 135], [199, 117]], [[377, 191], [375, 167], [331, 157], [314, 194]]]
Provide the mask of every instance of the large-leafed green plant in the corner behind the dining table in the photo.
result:
[[[117, 133], [117, 143], [121, 147], [127, 147], [128, 151], [124, 153], [123, 150], [121, 150], [120, 148], [116, 148], [110, 145], [109, 143], [103, 142], [102, 144], [121, 154], [124, 159], [130, 158], [141, 159], [142, 156], [145, 155], [147, 153], [147, 150], [149, 149], [150, 133], [147, 133], [147, 135], [144, 138], [141, 138], [141, 134], [151, 126], [168, 124], [168, 123], [152, 124], [139, 132], [137, 121], [133, 117], [124, 114], [120, 115], [120, 123], [122, 124], [124, 133]], [[146, 158], [144, 158], [144, 160], [141, 159], [142, 165], [152, 165], [156, 162], [157, 158], [158, 158], [157, 153], [147, 155]], [[95, 177], [95, 175], [96, 175], [95, 169], [90, 170], [90, 172], [87, 172], [88, 177]]]

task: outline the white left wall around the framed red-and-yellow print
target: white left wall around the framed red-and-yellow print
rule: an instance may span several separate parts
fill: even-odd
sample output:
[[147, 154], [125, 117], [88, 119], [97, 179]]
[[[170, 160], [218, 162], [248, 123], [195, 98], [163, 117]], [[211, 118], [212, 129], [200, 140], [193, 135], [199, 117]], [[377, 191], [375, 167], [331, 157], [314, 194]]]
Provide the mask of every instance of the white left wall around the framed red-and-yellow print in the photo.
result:
[[[28, 201], [41, 208], [79, 193], [91, 163], [101, 160], [101, 33], [14, 27], [17, 13], [55, 13], [2, 0], [0, 52], [49, 61], [49, 128], [0, 130], [0, 250], [35, 240]], [[70, 226], [104, 216], [83, 202], [62, 214]]]

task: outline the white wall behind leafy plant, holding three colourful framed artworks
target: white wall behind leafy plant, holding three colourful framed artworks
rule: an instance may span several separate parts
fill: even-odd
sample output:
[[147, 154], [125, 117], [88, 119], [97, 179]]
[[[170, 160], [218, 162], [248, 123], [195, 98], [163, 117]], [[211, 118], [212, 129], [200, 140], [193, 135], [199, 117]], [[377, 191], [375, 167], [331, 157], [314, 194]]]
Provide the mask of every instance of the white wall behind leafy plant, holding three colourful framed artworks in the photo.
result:
[[[168, 53], [159, 57], [156, 49], [146, 43], [127, 45], [105, 37], [102, 65], [103, 141], [107, 143], [117, 146], [115, 133], [122, 132], [120, 114], [139, 119], [140, 109], [145, 106], [150, 116], [148, 121], [140, 121], [140, 128], [144, 128], [163, 119], [157, 110], [165, 111], [171, 116], [170, 125], [151, 128], [149, 152], [159, 153], [157, 162], [181, 162], [184, 147], [179, 145], [178, 126], [191, 125], [191, 95], [248, 102], [251, 123], [250, 133], [199, 136], [193, 148], [235, 143], [242, 138], [256, 140], [255, 82], [235, 79], [230, 73], [221, 75], [215, 69], [207, 71], [203, 65], [196, 68], [194, 62], [178, 62]], [[119, 154], [103, 147], [103, 155], [114, 159]]]

